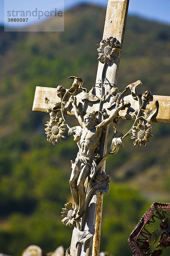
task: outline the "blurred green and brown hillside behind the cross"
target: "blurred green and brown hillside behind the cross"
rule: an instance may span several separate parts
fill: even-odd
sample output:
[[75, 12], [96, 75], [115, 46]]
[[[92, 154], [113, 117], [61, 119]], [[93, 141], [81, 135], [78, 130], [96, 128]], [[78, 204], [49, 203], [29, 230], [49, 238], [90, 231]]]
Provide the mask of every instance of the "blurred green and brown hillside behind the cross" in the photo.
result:
[[[61, 224], [59, 212], [72, 200], [68, 180], [77, 145], [67, 132], [62, 143], [47, 143], [44, 124], [49, 115], [31, 108], [36, 86], [69, 88], [69, 76], [82, 77], [88, 89], [94, 85], [96, 44], [104, 20], [105, 8], [80, 5], [65, 13], [65, 32], [10, 33], [0, 28], [0, 251], [4, 253], [19, 256], [30, 244], [45, 252], [70, 246], [72, 230]], [[48, 20], [46, 26], [54, 22]], [[119, 91], [140, 79], [139, 93], [151, 90], [170, 96], [169, 71], [170, 26], [127, 17]], [[74, 120], [70, 124], [74, 126]], [[125, 134], [130, 125], [125, 121], [117, 129]], [[155, 138], [147, 148], [133, 148], [128, 138], [106, 164], [112, 185], [105, 195], [101, 250], [114, 256], [132, 255], [127, 238], [144, 211], [153, 201], [169, 200], [170, 125], [154, 123], [152, 133]]]

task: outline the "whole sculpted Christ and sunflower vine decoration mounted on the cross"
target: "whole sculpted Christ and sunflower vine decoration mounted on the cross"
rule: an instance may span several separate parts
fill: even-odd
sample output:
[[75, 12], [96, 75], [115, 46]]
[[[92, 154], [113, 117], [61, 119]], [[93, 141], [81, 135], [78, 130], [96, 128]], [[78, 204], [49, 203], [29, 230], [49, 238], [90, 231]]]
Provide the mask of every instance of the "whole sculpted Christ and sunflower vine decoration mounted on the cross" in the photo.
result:
[[[74, 80], [70, 89], [66, 90], [61, 85], [57, 87], [56, 94], [60, 102], [50, 102], [45, 97], [45, 104], [50, 114], [50, 121], [45, 128], [47, 140], [53, 145], [61, 141], [61, 138], [65, 137], [64, 126], [67, 126], [68, 135], [74, 136], [78, 146], [77, 157], [75, 161], [71, 160], [70, 186], [74, 203], [69, 202], [65, 204], [65, 208], [62, 208], [62, 223], [77, 230], [75, 235], [77, 252], [79, 246], [82, 246], [81, 250], [86, 252], [86, 244], [89, 244], [88, 241], [95, 233], [94, 224], [87, 226], [89, 217], [85, 217], [92, 195], [102, 195], [109, 190], [110, 177], [101, 167], [109, 155], [116, 154], [119, 147], [124, 146], [123, 141], [128, 135], [131, 135], [134, 146], [147, 145], [149, 138], [153, 137], [151, 125], [159, 108], [156, 102], [153, 108], [146, 110], [153, 96], [150, 91], [146, 91], [143, 95], [137, 93], [136, 88], [142, 84], [140, 80], [127, 85], [125, 90], [119, 93], [118, 87], [105, 77], [105, 72], [119, 57], [120, 43], [116, 38], [110, 37], [102, 40], [99, 46], [98, 60], [104, 63], [101, 83], [95, 84], [88, 91], [82, 87], [81, 78], [70, 76], [69, 79]], [[79, 125], [70, 127], [66, 119], [67, 114], [74, 114]], [[111, 122], [119, 125], [121, 119], [133, 120], [132, 127], [123, 135], [114, 125], [111, 148], [102, 156], [101, 138], [106, 132], [105, 128]], [[70, 255], [69, 249], [66, 255]]]

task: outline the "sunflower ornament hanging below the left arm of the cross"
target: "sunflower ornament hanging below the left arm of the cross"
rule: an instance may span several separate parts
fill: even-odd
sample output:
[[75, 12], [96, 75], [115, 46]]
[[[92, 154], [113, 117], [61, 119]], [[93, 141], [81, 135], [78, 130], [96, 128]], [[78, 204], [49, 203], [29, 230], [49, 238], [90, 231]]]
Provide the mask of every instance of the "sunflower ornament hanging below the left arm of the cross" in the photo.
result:
[[61, 137], [65, 138], [63, 135], [65, 128], [62, 128], [65, 125], [64, 120], [61, 118], [53, 117], [50, 122], [45, 124], [45, 134], [47, 134], [47, 141], [52, 142], [55, 145], [55, 142], [61, 141]]

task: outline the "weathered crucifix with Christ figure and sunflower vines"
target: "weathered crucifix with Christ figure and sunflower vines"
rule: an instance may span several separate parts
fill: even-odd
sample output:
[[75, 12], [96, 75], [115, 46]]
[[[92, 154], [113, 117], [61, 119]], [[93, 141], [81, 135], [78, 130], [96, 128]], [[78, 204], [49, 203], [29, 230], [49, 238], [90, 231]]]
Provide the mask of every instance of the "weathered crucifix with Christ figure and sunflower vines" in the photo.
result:
[[[149, 90], [142, 95], [136, 88], [140, 80], [125, 85], [119, 92], [117, 77], [121, 58], [129, 0], [108, 0], [103, 38], [98, 44], [96, 83], [88, 91], [83, 80], [70, 76], [70, 89], [36, 87], [33, 111], [50, 114], [46, 123], [47, 140], [53, 145], [64, 138], [65, 128], [73, 135], [78, 153], [71, 160], [70, 186], [73, 202], [62, 209], [62, 223], [73, 228], [67, 256], [99, 255], [103, 193], [109, 189], [105, 160], [123, 147], [131, 136], [134, 146], [146, 146], [153, 122], [170, 123], [170, 96], [155, 96]], [[76, 116], [79, 125], [70, 127], [67, 115]], [[122, 119], [133, 120], [126, 134], [117, 131]], [[107, 151], [109, 124], [113, 139]]]

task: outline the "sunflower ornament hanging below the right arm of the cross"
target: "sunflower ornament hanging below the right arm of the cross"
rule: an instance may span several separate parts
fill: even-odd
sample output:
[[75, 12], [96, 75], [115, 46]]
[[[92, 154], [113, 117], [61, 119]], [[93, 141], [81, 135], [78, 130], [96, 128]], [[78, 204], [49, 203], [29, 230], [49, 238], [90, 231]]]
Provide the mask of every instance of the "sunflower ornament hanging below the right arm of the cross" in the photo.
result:
[[139, 120], [137, 126], [133, 126], [131, 131], [132, 136], [130, 138], [133, 140], [133, 146], [135, 147], [137, 145], [139, 147], [139, 145], [144, 145], [146, 147], [149, 138], [153, 137], [151, 131], [152, 127], [148, 122], [144, 124], [144, 121]]

